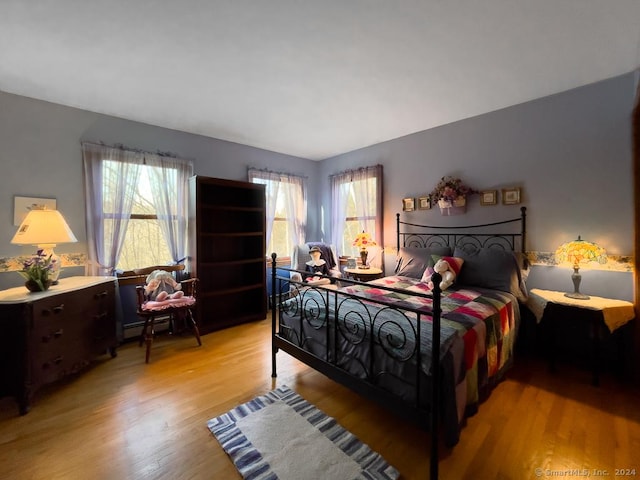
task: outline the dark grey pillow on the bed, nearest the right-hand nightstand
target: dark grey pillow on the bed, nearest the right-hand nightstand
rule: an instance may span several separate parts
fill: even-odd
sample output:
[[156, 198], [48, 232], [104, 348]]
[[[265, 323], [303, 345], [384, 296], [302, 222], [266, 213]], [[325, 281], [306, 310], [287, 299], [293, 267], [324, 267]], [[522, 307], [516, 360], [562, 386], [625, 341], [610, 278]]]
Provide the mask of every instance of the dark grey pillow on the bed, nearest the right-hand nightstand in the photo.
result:
[[454, 255], [464, 259], [459, 284], [508, 292], [518, 300], [526, 301], [528, 262], [524, 255], [497, 248], [475, 251], [456, 248]]

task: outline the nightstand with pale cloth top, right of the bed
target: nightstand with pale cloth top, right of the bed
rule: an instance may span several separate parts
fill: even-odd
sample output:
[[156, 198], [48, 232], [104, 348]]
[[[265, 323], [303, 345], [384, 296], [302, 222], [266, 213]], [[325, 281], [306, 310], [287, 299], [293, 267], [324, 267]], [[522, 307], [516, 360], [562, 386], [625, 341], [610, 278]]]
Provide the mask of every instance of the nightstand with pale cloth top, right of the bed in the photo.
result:
[[[527, 306], [535, 315], [542, 327], [543, 338], [546, 343], [551, 370], [556, 368], [556, 358], [559, 348], [568, 347], [575, 342], [574, 338], [559, 338], [559, 331], [563, 323], [573, 322], [576, 331], [586, 334], [591, 341], [592, 383], [600, 382], [600, 353], [601, 342], [605, 336], [613, 334], [635, 318], [633, 303], [602, 297], [591, 297], [588, 300], [577, 300], [566, 297], [564, 292], [541, 290], [534, 288], [529, 292]], [[625, 335], [619, 335], [618, 341], [623, 341]], [[624, 358], [628, 349], [618, 345], [618, 359], [621, 365], [629, 363]]]

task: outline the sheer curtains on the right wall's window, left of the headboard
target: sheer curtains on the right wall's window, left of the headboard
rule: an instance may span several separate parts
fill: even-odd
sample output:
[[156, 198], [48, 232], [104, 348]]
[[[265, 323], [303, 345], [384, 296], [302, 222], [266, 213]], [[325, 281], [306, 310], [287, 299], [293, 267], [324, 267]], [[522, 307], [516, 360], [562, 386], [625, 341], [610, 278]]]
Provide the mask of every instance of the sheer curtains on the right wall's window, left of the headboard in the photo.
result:
[[[368, 180], [375, 179], [375, 182]], [[330, 177], [331, 183], [331, 242], [342, 245], [347, 220], [348, 196], [353, 191], [356, 216], [360, 218], [360, 229], [372, 234], [378, 247], [371, 255], [371, 264], [380, 267], [383, 263], [383, 219], [382, 219], [382, 165], [348, 170]], [[343, 255], [345, 252], [338, 252]]]

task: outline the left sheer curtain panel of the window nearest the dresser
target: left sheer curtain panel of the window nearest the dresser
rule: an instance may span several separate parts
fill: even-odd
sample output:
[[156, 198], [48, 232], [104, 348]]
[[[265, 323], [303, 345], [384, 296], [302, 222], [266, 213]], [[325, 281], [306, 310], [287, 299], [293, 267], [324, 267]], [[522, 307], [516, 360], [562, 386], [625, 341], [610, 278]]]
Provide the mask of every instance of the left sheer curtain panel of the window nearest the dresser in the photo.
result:
[[[105, 145], [82, 143], [84, 168], [87, 249], [87, 275], [113, 275], [131, 216], [133, 198], [144, 156], [140, 152]], [[104, 164], [112, 160], [113, 175], [104, 181]], [[105, 238], [109, 213], [110, 235]]]

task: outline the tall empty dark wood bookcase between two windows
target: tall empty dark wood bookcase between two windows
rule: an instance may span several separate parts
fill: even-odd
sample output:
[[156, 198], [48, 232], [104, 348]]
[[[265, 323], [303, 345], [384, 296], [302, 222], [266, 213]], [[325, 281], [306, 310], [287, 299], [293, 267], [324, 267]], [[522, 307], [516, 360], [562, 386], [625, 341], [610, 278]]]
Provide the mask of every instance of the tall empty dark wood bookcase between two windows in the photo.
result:
[[189, 242], [189, 270], [200, 280], [196, 316], [201, 333], [264, 319], [264, 185], [192, 177]]

